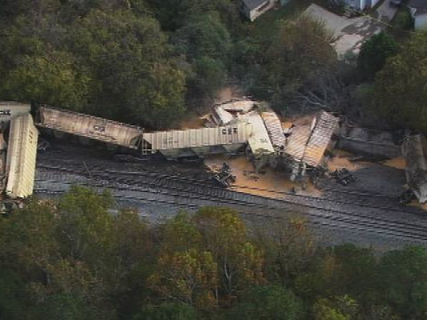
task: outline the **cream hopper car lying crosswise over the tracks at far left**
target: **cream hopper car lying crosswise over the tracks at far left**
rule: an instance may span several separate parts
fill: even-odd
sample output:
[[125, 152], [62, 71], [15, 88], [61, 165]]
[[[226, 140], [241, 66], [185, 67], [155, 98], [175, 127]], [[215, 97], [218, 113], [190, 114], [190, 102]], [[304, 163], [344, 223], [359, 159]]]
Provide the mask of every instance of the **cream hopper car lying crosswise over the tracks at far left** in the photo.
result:
[[12, 119], [6, 160], [6, 195], [12, 198], [33, 194], [38, 132], [29, 114]]

